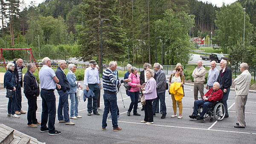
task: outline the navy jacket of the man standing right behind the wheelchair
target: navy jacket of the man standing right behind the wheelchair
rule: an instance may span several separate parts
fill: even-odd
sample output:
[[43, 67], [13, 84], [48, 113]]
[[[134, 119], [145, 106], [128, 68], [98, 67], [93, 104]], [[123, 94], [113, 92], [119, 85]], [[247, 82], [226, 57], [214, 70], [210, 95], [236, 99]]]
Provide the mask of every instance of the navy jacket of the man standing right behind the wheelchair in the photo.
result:
[[220, 84], [221, 89], [227, 89], [232, 85], [232, 72], [227, 66], [223, 73], [222, 70], [220, 70], [217, 82]]

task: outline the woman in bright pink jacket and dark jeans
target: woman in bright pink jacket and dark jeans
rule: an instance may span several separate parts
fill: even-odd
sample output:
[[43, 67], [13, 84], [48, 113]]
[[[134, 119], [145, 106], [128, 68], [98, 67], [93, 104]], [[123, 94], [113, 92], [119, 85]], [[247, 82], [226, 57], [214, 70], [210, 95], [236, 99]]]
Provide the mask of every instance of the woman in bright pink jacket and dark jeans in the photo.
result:
[[131, 115], [131, 110], [134, 108], [134, 115], [140, 114], [137, 112], [138, 108], [138, 99], [139, 99], [139, 93], [140, 93], [140, 75], [137, 74], [137, 68], [131, 67], [131, 74], [128, 77], [131, 81], [128, 82], [129, 86], [131, 86], [131, 89], [129, 90], [130, 98], [131, 98], [131, 104], [128, 109], [127, 115]]

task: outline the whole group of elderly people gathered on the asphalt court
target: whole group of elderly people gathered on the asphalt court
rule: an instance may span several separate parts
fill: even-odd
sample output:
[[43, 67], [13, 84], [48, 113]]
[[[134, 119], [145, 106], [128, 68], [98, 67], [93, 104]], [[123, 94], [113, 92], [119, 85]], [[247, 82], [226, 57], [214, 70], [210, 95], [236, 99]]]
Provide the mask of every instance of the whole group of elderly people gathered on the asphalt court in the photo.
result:
[[[40, 132], [49, 132], [49, 135], [61, 134], [60, 131], [55, 130], [55, 115], [56, 115], [56, 99], [54, 91], [57, 89], [59, 95], [58, 102], [58, 121], [59, 123], [65, 123], [67, 125], [75, 125], [70, 121], [71, 119], [82, 118], [78, 115], [78, 95], [77, 89], [81, 87], [81, 84], [76, 79], [76, 65], [69, 64], [67, 76], [64, 72], [66, 68], [66, 61], [58, 61], [58, 69], [56, 72], [50, 68], [51, 60], [44, 58], [42, 60], [43, 67], [39, 71], [39, 80], [41, 83], [41, 91], [39, 88], [38, 80], [35, 78], [33, 73], [36, 70], [34, 63], [27, 65], [27, 72], [22, 76], [23, 60], [17, 59], [17, 63], [8, 63], [7, 71], [4, 76], [4, 87], [6, 89], [12, 89], [15, 91], [13, 98], [9, 98], [8, 102], [8, 117], [20, 118], [17, 115], [25, 114], [21, 109], [21, 87], [24, 88], [24, 94], [28, 99], [28, 111], [27, 111], [27, 126], [38, 127], [41, 124]], [[204, 119], [204, 113], [207, 107], [212, 105], [214, 101], [222, 99], [222, 103], [226, 109], [225, 118], [228, 118], [227, 99], [230, 92], [230, 86], [232, 85], [232, 73], [231, 70], [226, 66], [227, 61], [221, 60], [220, 72], [216, 68], [216, 62], [212, 61], [211, 69], [208, 72], [206, 89], [209, 90], [204, 95], [204, 79], [206, 69], [202, 66], [202, 61], [198, 61], [198, 67], [192, 73], [194, 77], [194, 111], [190, 118], [196, 118], [198, 120]], [[102, 85], [100, 83], [99, 71], [96, 66], [95, 60], [90, 60], [90, 67], [84, 71], [84, 86], [87, 97], [87, 115], [100, 115], [99, 99], [100, 89]], [[127, 111], [127, 115], [131, 116], [133, 109], [133, 115], [140, 114], [137, 112], [138, 99], [140, 92], [144, 95], [145, 104], [143, 110], [145, 112], [144, 120], [141, 121], [145, 124], [154, 124], [153, 117], [156, 116], [157, 108], [159, 108], [160, 101], [160, 112], [161, 118], [166, 118], [166, 103], [165, 94], [166, 89], [169, 89], [169, 94], [172, 97], [173, 115], [171, 118], [182, 118], [182, 98], [184, 96], [184, 82], [185, 77], [183, 74], [183, 67], [180, 63], [177, 64], [175, 71], [170, 75], [169, 87], [166, 79], [166, 75], [161, 70], [159, 63], [154, 63], [153, 69], [151, 64], [145, 63], [144, 70], [138, 75], [137, 68], [128, 64], [126, 68], [128, 72], [125, 73], [124, 79], [119, 80], [118, 72], [116, 71], [117, 63], [111, 61], [108, 68], [105, 69], [102, 75], [103, 81], [103, 99], [104, 99], [104, 112], [102, 117], [102, 130], [106, 130], [107, 118], [112, 118], [113, 131], [122, 130], [118, 127], [117, 120], [119, 119], [119, 109], [117, 107], [116, 94], [119, 91], [119, 86], [122, 83], [128, 83], [130, 88], [126, 88], [126, 94], [131, 98], [131, 104]], [[241, 63], [240, 71], [242, 72], [238, 78], [234, 80], [236, 84], [236, 114], [238, 122], [234, 127], [244, 128], [244, 107], [247, 101], [247, 95], [250, 86], [250, 72], [248, 72], [247, 63]], [[203, 99], [198, 100], [198, 91]], [[42, 98], [42, 114], [41, 122], [38, 122], [36, 118], [37, 110], [37, 97], [41, 95]], [[69, 104], [68, 95], [70, 95], [71, 108], [69, 115]], [[199, 105], [203, 105], [203, 111], [198, 115], [197, 109]], [[179, 108], [179, 115], [177, 115], [177, 106]], [[111, 117], [108, 117], [108, 113], [111, 112]], [[47, 127], [48, 122], [48, 127]]]

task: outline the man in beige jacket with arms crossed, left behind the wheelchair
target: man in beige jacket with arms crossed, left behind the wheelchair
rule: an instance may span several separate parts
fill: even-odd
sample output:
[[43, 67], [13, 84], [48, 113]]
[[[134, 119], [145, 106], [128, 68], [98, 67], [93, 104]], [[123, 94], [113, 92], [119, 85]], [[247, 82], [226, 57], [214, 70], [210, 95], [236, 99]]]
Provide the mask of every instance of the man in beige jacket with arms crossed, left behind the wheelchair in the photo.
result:
[[202, 66], [201, 60], [198, 60], [198, 67], [194, 69], [192, 77], [194, 78], [194, 99], [198, 100], [198, 90], [201, 97], [204, 95], [204, 78], [206, 69]]

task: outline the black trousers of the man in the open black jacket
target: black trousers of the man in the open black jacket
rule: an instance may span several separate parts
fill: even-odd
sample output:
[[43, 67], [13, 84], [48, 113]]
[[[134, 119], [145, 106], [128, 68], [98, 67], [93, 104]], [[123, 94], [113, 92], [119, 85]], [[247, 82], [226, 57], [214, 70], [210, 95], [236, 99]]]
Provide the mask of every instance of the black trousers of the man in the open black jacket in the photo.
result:
[[27, 115], [27, 119], [28, 119], [28, 125], [29, 124], [36, 124], [38, 123], [37, 119], [36, 119], [36, 110], [37, 110], [37, 96], [32, 96], [32, 95], [26, 95], [26, 98], [28, 99], [28, 105], [29, 105], [29, 109], [28, 109], [28, 115]]

